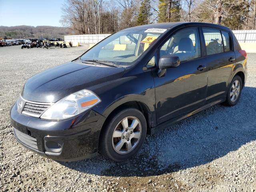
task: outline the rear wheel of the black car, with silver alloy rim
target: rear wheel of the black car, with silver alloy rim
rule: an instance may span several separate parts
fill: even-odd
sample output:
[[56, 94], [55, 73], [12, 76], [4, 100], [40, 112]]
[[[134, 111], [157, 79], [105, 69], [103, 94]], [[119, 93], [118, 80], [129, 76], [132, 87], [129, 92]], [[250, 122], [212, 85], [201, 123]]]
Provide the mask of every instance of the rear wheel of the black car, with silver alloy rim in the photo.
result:
[[232, 107], [238, 103], [241, 96], [242, 87], [243, 87], [243, 83], [240, 76], [238, 75], [234, 76], [230, 85], [228, 86], [226, 101], [224, 102], [226, 106]]

